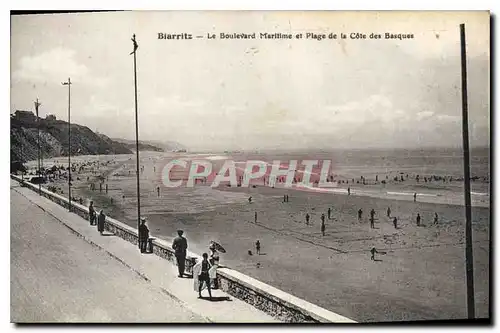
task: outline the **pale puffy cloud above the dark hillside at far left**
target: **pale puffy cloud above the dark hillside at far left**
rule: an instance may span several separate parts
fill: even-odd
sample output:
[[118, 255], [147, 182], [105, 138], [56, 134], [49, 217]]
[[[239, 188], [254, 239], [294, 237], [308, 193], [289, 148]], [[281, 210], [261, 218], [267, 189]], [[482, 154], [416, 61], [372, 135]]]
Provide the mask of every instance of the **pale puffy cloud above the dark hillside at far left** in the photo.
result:
[[73, 82], [82, 82], [99, 88], [109, 85], [108, 78], [92, 75], [87, 66], [78, 63], [75, 54], [74, 50], [56, 47], [39, 55], [24, 56], [12, 76], [29, 82], [59, 83], [70, 77]]

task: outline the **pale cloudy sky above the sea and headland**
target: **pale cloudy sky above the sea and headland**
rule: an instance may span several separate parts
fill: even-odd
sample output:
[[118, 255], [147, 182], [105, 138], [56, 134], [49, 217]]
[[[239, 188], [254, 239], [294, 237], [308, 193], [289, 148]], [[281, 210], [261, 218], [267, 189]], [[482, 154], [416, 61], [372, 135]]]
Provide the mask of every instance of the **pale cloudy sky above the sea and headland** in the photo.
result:
[[[114, 12], [11, 17], [11, 108], [191, 150], [460, 147], [459, 24], [472, 146], [489, 145], [487, 12]], [[220, 39], [282, 33], [291, 40]], [[306, 39], [306, 33], [347, 39]], [[386, 32], [412, 39], [384, 39]], [[192, 40], [158, 39], [192, 34]], [[295, 36], [303, 33], [302, 39]], [[366, 39], [351, 39], [351, 33]], [[371, 33], [381, 39], [370, 39]], [[216, 39], [208, 40], [207, 34]]]

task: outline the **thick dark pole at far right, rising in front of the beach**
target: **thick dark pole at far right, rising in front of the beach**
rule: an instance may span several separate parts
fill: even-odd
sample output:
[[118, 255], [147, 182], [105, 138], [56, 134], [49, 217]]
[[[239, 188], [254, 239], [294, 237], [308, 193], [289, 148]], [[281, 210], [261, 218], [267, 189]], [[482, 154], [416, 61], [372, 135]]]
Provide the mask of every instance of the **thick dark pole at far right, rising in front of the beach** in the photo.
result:
[[465, 191], [465, 269], [467, 274], [467, 317], [474, 319], [474, 262], [472, 257], [472, 219], [470, 199], [470, 161], [469, 161], [469, 116], [467, 102], [467, 55], [465, 45], [465, 24], [460, 24], [460, 49], [462, 58], [462, 136], [464, 152], [464, 191]]

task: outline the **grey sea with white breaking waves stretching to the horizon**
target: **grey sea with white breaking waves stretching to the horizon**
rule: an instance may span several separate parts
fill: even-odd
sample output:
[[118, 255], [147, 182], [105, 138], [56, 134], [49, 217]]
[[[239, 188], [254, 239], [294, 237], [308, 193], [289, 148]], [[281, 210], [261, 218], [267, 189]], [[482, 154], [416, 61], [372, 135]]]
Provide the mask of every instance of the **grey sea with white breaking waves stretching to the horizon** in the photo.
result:
[[[135, 178], [135, 155], [91, 155], [72, 156], [72, 163], [81, 164], [88, 161], [127, 160], [121, 171], [115, 176]], [[380, 197], [394, 200], [414, 200], [417, 194], [419, 201], [463, 205], [464, 200], [464, 167], [463, 152], [457, 148], [422, 148], [422, 149], [349, 149], [349, 150], [268, 150], [268, 151], [225, 151], [225, 152], [140, 152], [141, 166], [144, 166], [147, 177], [144, 181], [151, 185], [161, 186], [165, 177], [163, 168], [172, 160], [183, 160], [188, 163], [205, 161], [212, 165], [210, 174], [204, 185], [211, 184], [226, 161], [234, 161], [237, 179], [243, 175], [247, 161], [262, 161], [267, 165], [264, 176], [250, 181], [250, 185], [269, 186], [269, 174], [273, 163], [279, 161], [280, 168], [287, 168], [290, 161], [297, 161], [297, 183], [293, 190], [312, 191], [325, 194], [345, 194]], [[312, 169], [311, 185], [301, 185], [304, 175], [304, 160], [317, 160], [318, 166]], [[321, 163], [330, 161], [329, 177], [333, 182], [329, 187], [321, 187], [314, 183], [319, 179]], [[28, 166], [36, 168], [36, 161]], [[51, 165], [67, 165], [66, 158], [50, 158], [44, 161], [45, 167]], [[127, 171], [128, 170], [128, 171]], [[151, 174], [151, 171], [154, 172]], [[190, 171], [186, 168], [174, 167], [170, 178], [187, 182]], [[255, 171], [255, 169], [254, 169]], [[227, 175], [227, 173], [226, 173]], [[266, 183], [267, 176], [267, 183]], [[417, 176], [419, 181], [416, 181]], [[473, 148], [470, 151], [471, 198], [474, 206], [490, 206], [490, 149]], [[142, 178], [142, 177], [141, 177]], [[397, 179], [397, 180], [395, 180]], [[402, 179], [402, 181], [401, 181]], [[424, 181], [425, 179], [425, 181]], [[427, 181], [429, 179], [429, 181]], [[444, 179], [444, 181], [443, 181]], [[228, 186], [229, 182], [221, 182], [219, 186]], [[202, 186], [202, 184], [196, 184]], [[277, 182], [276, 187], [285, 184]], [[195, 189], [196, 191], [196, 189]]]

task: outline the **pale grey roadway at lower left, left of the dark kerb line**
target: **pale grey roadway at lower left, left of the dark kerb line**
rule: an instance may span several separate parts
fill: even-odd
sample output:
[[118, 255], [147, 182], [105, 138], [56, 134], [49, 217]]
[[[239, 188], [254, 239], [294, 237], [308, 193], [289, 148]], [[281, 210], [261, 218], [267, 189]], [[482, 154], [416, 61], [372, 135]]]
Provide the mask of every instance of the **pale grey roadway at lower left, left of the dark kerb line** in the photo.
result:
[[202, 322], [11, 189], [11, 322]]

